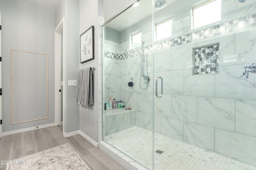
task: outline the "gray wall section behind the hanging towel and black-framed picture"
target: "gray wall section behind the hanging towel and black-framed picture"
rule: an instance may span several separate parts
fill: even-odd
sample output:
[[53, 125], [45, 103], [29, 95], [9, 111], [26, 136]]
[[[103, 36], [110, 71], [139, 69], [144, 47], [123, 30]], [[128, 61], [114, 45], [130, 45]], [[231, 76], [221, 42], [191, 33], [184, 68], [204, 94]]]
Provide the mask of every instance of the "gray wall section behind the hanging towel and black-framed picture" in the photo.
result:
[[[80, 131], [98, 142], [98, 5], [102, 6], [101, 1], [80, 0], [80, 35], [92, 25], [94, 26], [94, 60], [80, 64], [79, 68], [95, 66], [93, 70], [94, 83], [94, 105], [80, 105]], [[90, 16], [90, 17], [88, 17]], [[86, 18], [86, 20], [85, 20]], [[101, 57], [101, 56], [100, 56]], [[102, 130], [101, 130], [102, 131]]]

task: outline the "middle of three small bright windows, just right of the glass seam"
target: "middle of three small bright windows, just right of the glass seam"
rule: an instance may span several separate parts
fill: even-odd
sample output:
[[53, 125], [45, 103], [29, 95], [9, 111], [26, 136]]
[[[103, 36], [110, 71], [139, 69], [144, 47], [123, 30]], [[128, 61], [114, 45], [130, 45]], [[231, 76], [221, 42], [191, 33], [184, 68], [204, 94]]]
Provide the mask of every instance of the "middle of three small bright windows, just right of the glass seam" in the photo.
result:
[[156, 41], [172, 36], [172, 18], [156, 24]]

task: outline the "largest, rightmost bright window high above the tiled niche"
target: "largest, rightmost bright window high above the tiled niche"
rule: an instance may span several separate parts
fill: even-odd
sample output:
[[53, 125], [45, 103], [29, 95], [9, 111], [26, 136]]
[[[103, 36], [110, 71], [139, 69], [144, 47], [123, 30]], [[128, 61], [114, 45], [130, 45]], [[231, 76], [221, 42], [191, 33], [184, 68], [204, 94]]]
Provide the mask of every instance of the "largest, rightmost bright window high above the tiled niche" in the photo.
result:
[[193, 24], [196, 29], [221, 20], [221, 0], [208, 0], [192, 8]]

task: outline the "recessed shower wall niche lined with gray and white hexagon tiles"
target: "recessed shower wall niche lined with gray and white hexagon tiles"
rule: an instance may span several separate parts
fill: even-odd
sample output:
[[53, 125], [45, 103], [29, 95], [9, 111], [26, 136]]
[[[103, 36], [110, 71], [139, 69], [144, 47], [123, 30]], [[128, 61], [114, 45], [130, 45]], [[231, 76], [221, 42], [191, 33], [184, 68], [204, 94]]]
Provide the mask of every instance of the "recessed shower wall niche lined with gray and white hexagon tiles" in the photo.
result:
[[193, 49], [193, 74], [216, 74], [219, 72], [219, 43]]

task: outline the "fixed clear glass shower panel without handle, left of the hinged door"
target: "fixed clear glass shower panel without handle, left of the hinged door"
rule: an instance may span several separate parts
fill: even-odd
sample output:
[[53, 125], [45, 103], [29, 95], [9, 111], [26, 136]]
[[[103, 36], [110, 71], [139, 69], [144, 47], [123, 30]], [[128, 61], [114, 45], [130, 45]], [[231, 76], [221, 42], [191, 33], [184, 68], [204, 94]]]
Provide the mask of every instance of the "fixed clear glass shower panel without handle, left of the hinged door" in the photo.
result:
[[[140, 0], [103, 27], [103, 140], [152, 167], [152, 2]], [[114, 106], [114, 104], [112, 104]]]

